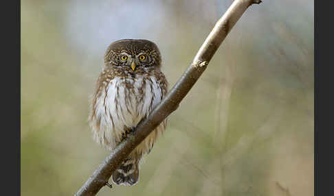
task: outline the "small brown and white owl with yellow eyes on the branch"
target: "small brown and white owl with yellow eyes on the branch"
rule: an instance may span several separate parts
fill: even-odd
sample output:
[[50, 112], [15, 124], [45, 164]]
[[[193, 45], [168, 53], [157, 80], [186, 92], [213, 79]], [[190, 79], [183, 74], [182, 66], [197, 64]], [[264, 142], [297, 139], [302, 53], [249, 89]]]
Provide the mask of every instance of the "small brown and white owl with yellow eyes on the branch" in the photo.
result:
[[[109, 45], [89, 114], [97, 143], [112, 151], [162, 101], [168, 82], [161, 66], [159, 49], [149, 40], [126, 39]], [[151, 151], [165, 129], [166, 119], [115, 170], [115, 184], [137, 184], [142, 156]]]

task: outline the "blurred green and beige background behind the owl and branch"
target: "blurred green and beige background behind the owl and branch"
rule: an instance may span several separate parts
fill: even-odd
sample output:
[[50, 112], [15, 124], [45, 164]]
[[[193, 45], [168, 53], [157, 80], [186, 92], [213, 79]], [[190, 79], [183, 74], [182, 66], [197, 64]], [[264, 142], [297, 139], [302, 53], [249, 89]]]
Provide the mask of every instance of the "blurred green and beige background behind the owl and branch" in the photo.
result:
[[[104, 51], [155, 42], [170, 88], [229, 1], [21, 1], [21, 195], [74, 195], [109, 154], [89, 97]], [[313, 195], [313, 1], [263, 1], [168, 118], [136, 186], [98, 195]]]

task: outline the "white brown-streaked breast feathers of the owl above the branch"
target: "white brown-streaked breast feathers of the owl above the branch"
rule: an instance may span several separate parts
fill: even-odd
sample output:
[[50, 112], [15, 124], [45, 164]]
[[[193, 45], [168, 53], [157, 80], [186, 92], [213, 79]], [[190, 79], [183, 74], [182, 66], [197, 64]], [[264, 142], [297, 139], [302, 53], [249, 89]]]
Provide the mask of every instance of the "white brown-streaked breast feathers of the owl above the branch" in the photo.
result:
[[93, 119], [100, 121], [100, 126], [93, 127], [98, 143], [114, 149], [122, 139], [124, 128], [135, 127], [162, 100], [162, 88], [157, 80], [154, 77], [143, 79], [115, 77], [102, 89]]

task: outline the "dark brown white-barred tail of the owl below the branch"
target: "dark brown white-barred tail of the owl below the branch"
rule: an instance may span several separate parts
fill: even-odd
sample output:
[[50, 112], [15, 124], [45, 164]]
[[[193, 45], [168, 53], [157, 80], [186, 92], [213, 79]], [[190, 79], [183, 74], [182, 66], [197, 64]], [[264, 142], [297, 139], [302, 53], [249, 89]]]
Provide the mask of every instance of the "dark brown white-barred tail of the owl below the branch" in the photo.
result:
[[120, 167], [113, 173], [113, 183], [124, 186], [137, 184], [139, 168], [137, 158], [128, 157], [120, 164]]

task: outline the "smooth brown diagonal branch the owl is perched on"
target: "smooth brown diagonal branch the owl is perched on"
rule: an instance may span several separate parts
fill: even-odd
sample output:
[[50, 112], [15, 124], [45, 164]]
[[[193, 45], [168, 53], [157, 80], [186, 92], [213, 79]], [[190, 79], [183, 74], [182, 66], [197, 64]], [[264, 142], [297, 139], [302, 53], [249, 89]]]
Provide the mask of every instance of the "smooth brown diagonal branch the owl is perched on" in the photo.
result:
[[100, 191], [100, 188], [107, 185], [111, 174], [117, 169], [122, 160], [124, 160], [157, 125], [177, 109], [179, 103], [186, 97], [190, 88], [194, 86], [197, 79], [199, 79], [203, 71], [205, 71], [214, 53], [216, 53], [216, 50], [221, 45], [221, 42], [223, 42], [236, 21], [240, 19], [249, 5], [259, 3], [261, 3], [260, 0], [235, 0], [232, 3], [221, 19], [216, 22], [216, 25], [194, 57], [194, 60], [192, 60], [192, 63], [186, 72], [183, 73], [177, 84], [173, 86], [172, 90], [164, 97], [161, 103], [154, 108], [153, 112], [151, 112], [146, 119], [140, 121], [133, 134], [129, 135], [126, 140], [120, 143], [104, 162], [100, 164], [98, 169], [94, 171], [93, 175], [89, 177], [87, 182], [85, 182], [76, 193], [77, 196], [96, 195], [96, 193]]

